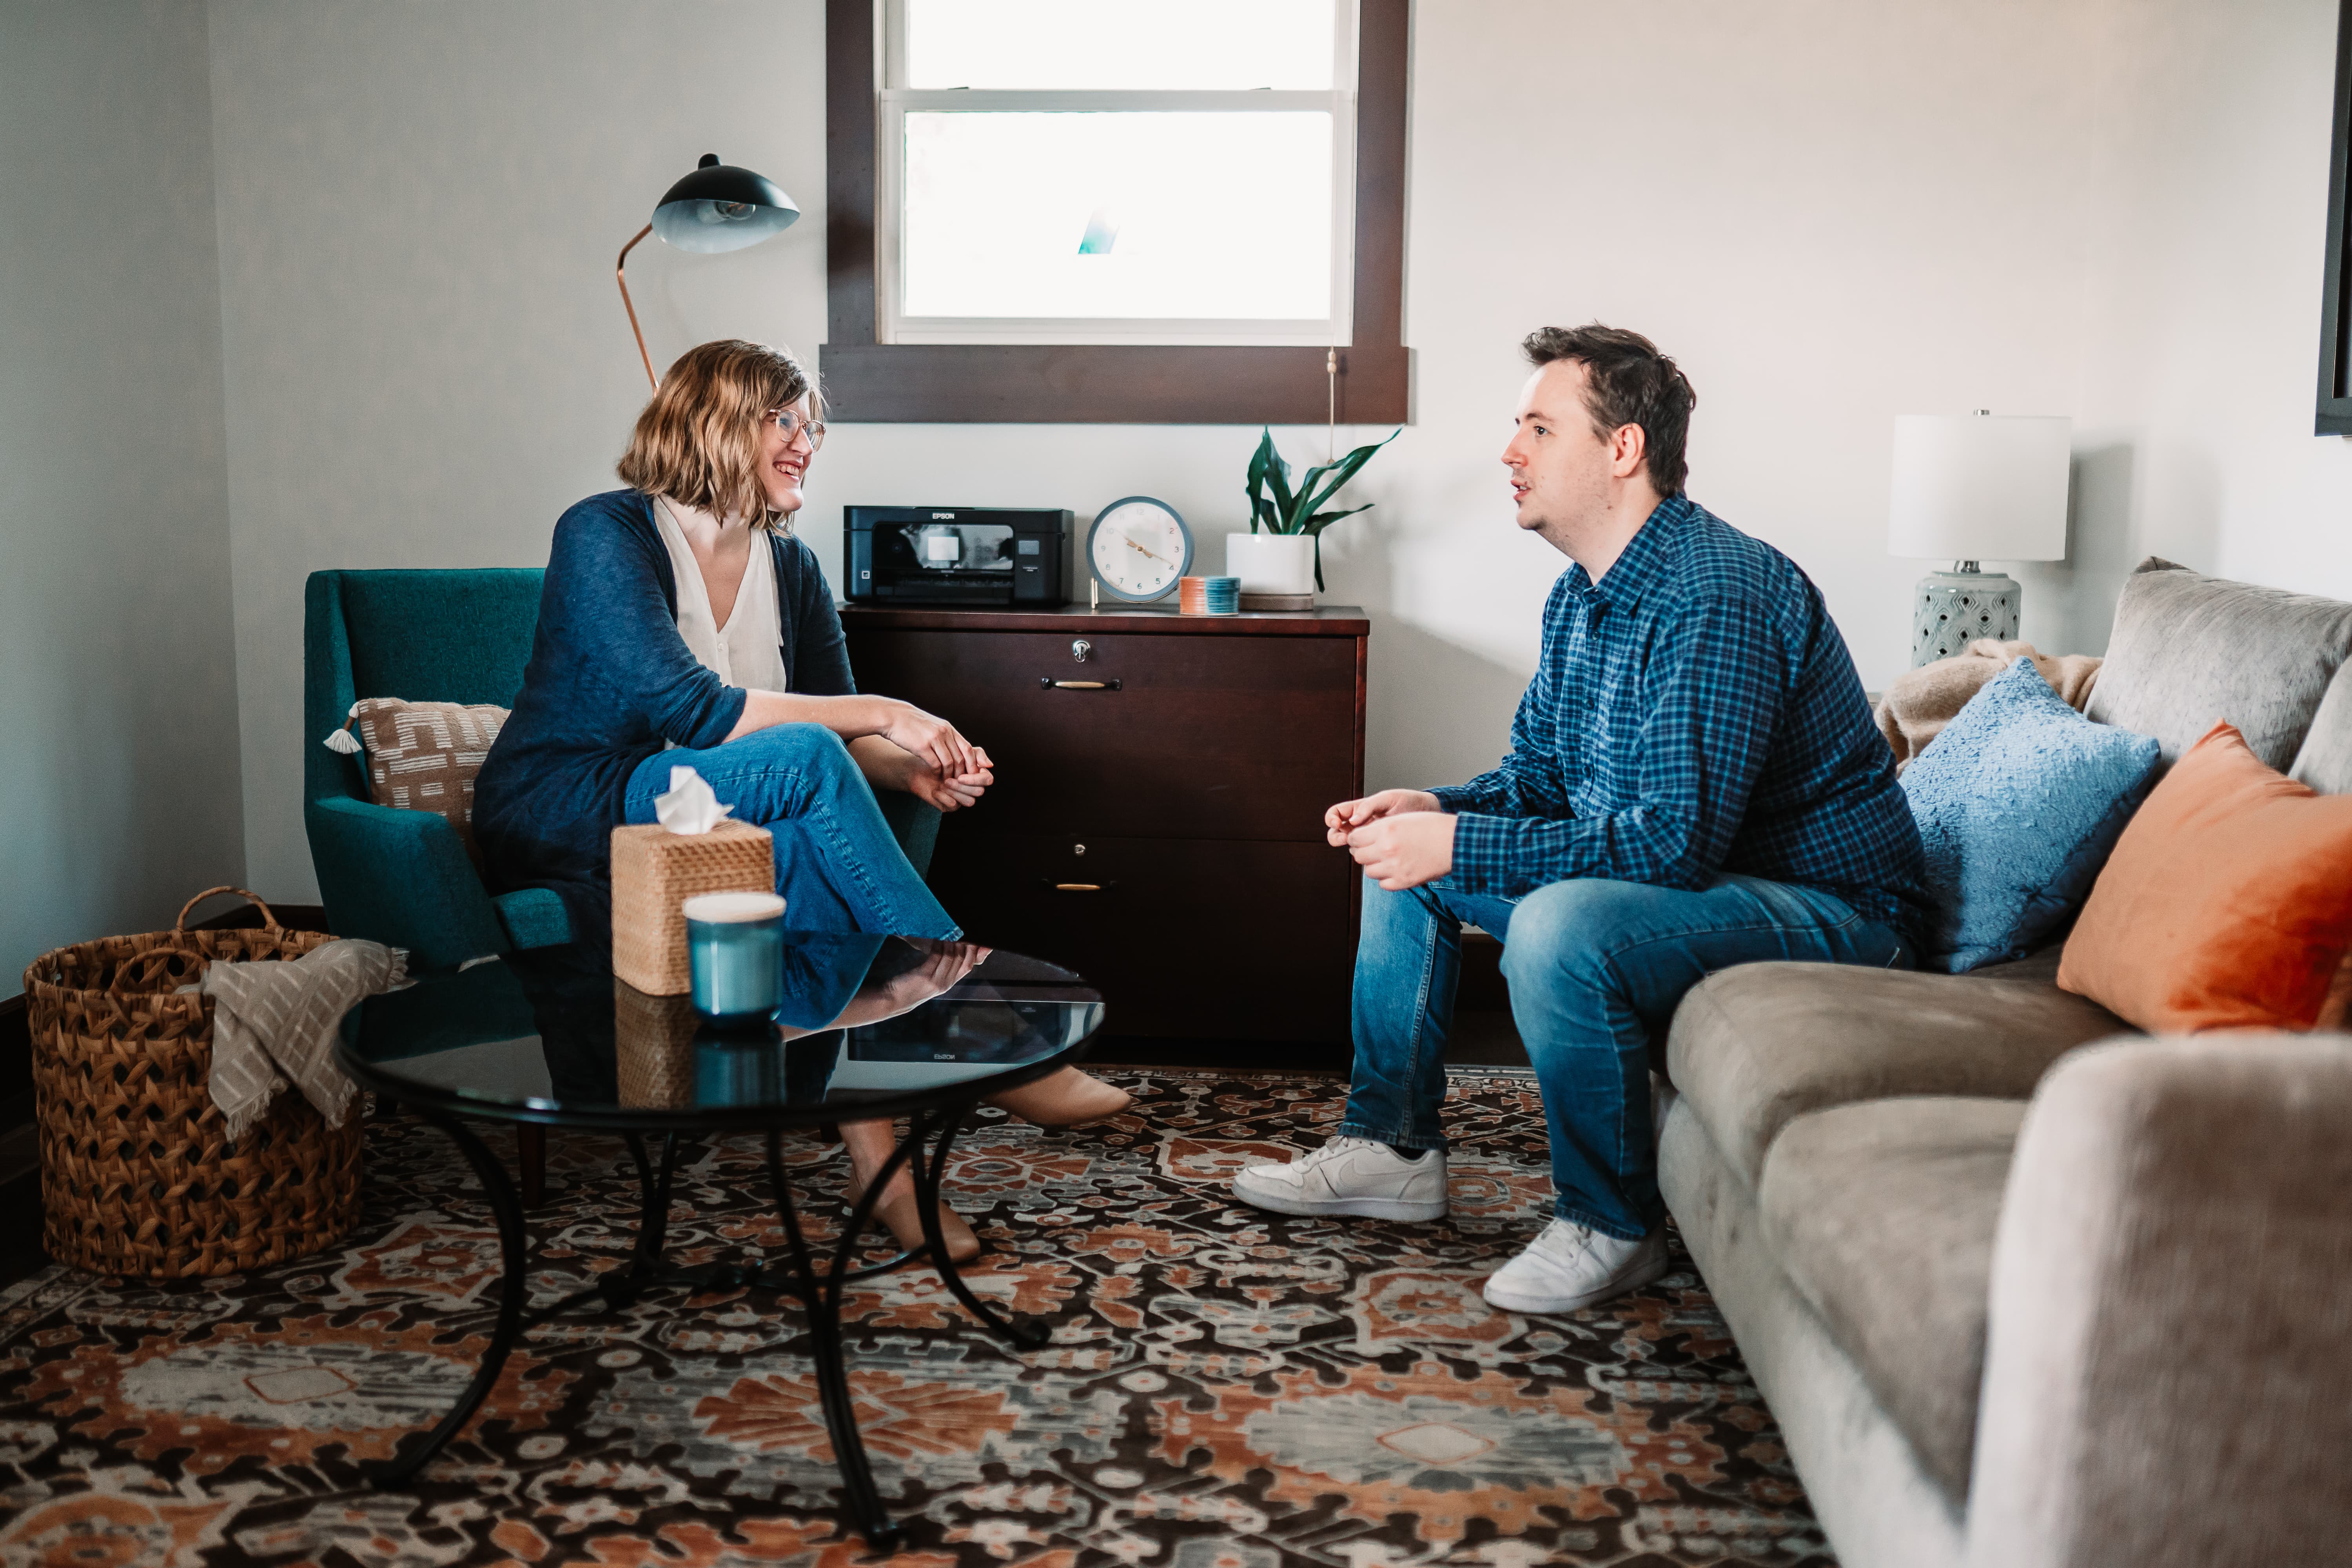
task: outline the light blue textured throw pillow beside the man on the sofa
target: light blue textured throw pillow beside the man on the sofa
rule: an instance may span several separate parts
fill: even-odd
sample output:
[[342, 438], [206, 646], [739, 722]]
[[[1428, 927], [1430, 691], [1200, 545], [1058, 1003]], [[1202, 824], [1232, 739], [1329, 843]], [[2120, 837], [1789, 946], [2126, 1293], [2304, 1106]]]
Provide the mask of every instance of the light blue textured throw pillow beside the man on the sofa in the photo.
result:
[[2020, 658], [1903, 769], [1936, 917], [1919, 969], [2020, 959], [2091, 893], [2147, 797], [2157, 743], [2093, 724]]

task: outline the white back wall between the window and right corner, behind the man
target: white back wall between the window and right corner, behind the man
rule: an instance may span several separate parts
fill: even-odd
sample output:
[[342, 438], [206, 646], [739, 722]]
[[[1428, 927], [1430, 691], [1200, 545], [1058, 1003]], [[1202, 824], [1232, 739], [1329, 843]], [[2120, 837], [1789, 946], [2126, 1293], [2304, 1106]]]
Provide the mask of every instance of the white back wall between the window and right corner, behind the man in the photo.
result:
[[1698, 388], [1691, 496], [1813, 576], [1865, 684], [1905, 665], [1922, 562], [1884, 548], [1893, 416], [2063, 411], [2072, 390], [2079, 12], [1418, 7], [1421, 423], [1369, 487], [1388, 505], [1357, 541], [1378, 548], [1350, 562], [1390, 611], [1381, 783], [1498, 752], [1534, 668], [1562, 562], [1515, 536], [1496, 451], [1517, 339], [1543, 322], [1597, 317], [1677, 355]]

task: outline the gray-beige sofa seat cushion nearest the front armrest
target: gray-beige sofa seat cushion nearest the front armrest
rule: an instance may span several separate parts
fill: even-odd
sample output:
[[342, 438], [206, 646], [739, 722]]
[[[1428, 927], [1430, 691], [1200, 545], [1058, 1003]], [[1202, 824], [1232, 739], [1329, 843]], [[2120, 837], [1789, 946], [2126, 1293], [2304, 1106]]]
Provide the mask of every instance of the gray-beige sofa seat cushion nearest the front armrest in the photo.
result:
[[1764, 1239], [1919, 1465], [1962, 1505], [1985, 1373], [1992, 1234], [2023, 1100], [1903, 1098], [1790, 1121]]

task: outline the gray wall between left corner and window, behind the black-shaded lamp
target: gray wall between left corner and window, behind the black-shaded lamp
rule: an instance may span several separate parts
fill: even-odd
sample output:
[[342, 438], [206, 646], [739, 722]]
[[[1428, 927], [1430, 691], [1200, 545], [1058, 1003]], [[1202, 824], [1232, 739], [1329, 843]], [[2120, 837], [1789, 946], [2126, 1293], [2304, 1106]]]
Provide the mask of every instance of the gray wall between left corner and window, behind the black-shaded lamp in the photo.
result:
[[[701, 153], [811, 216], [630, 259], [659, 364], [823, 320], [816, 0], [212, 7], [245, 823], [310, 898], [301, 590], [322, 567], [539, 567], [614, 489], [644, 371], [612, 261]], [[369, 693], [421, 696], [421, 693]]]

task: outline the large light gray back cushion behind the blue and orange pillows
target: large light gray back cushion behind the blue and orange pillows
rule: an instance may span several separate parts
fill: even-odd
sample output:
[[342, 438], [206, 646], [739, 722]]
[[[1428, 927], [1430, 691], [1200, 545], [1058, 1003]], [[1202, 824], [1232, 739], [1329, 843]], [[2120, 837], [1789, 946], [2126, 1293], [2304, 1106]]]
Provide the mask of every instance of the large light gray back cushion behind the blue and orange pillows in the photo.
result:
[[2084, 710], [2154, 736], [2173, 764], [2213, 719], [2286, 769], [2352, 654], [2352, 604], [2253, 588], [2147, 557], [2124, 578], [2107, 663]]

